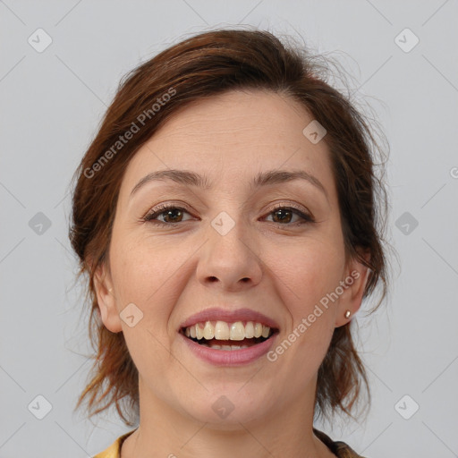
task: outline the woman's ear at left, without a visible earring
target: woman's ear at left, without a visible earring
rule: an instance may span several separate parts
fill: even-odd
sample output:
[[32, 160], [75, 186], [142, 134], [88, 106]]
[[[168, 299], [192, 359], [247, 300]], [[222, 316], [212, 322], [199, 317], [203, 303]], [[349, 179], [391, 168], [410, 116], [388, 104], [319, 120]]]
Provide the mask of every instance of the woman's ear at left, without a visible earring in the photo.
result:
[[122, 330], [121, 318], [116, 308], [111, 275], [105, 264], [99, 266], [94, 274], [94, 287], [97, 293], [100, 317], [105, 327], [112, 333], [119, 333]]

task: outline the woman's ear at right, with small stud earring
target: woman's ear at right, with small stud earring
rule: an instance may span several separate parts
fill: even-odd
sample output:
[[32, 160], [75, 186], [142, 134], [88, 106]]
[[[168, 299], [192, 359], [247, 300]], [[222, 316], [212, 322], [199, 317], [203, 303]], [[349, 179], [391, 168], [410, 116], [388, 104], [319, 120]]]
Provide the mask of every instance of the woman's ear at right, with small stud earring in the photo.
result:
[[[360, 254], [369, 263], [369, 250], [361, 252]], [[352, 319], [354, 314], [360, 310], [362, 295], [366, 284], [368, 283], [369, 274], [369, 267], [361, 264], [358, 259], [352, 259], [348, 263], [343, 280], [346, 286], [344, 286], [344, 293], [341, 295], [339, 305], [337, 307], [335, 327], [346, 325]], [[349, 318], [345, 318], [345, 312], [347, 310], [350, 310], [351, 313]]]

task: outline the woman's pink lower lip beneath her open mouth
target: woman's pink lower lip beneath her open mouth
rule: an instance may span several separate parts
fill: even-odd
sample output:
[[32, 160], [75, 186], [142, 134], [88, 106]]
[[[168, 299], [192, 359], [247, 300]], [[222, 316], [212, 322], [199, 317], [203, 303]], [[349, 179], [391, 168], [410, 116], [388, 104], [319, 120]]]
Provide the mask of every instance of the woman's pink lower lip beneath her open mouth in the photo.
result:
[[211, 347], [197, 344], [180, 333], [185, 343], [189, 346], [191, 352], [193, 352], [201, 360], [215, 364], [216, 366], [241, 366], [243, 364], [249, 364], [254, 360], [258, 360], [269, 351], [277, 334], [278, 333], [272, 335], [260, 344], [252, 345], [247, 348], [241, 348], [240, 350], [216, 350]]

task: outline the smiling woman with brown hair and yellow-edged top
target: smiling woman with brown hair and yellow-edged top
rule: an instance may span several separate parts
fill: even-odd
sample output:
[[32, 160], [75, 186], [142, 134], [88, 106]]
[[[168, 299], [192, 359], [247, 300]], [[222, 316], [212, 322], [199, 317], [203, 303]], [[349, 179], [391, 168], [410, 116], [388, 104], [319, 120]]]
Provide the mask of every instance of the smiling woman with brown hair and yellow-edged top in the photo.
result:
[[215, 30], [123, 81], [72, 200], [97, 351], [77, 407], [140, 418], [98, 458], [360, 456], [313, 421], [367, 385], [351, 322], [386, 294], [386, 193], [320, 71]]

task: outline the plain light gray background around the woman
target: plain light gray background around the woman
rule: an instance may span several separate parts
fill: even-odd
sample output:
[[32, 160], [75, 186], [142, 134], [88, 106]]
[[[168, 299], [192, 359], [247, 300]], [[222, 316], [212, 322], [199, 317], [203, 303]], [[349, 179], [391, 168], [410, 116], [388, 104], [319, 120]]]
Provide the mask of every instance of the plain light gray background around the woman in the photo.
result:
[[[130, 430], [113, 411], [94, 422], [72, 411], [89, 346], [69, 182], [125, 72], [185, 34], [239, 23], [342, 59], [391, 146], [400, 265], [386, 304], [356, 318], [372, 410], [323, 429], [369, 458], [458, 456], [457, 13], [456, 0], [0, 0], [0, 457], [91, 456]], [[41, 53], [28, 42], [46, 43], [38, 28], [53, 40]], [[396, 39], [406, 28], [420, 39], [409, 52], [414, 37]], [[52, 406], [42, 420], [38, 395]]]

